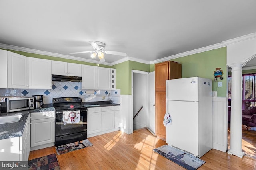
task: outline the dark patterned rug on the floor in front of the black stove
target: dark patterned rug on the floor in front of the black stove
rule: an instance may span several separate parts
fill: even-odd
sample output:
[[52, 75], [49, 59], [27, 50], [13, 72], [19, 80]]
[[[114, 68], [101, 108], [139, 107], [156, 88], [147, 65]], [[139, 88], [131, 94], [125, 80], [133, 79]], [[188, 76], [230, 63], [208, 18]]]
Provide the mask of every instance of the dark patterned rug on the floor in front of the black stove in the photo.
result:
[[55, 147], [55, 149], [56, 149], [57, 154], [60, 155], [60, 154], [72, 152], [74, 150], [83, 149], [83, 148], [90, 147], [90, 146], [92, 146], [92, 143], [88, 139], [86, 139], [83, 141], [72, 142], [72, 143], [68, 143], [65, 145], [60, 145], [58, 147]]

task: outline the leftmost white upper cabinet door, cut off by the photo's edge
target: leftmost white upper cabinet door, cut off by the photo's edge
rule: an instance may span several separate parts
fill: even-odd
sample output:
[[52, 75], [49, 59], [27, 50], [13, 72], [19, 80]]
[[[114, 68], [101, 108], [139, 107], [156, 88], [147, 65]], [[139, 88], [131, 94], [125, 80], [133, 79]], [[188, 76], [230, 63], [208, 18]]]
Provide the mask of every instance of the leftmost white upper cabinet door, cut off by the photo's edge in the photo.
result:
[[7, 51], [0, 50], [0, 68], [1, 68], [1, 81], [0, 88], [7, 87]]

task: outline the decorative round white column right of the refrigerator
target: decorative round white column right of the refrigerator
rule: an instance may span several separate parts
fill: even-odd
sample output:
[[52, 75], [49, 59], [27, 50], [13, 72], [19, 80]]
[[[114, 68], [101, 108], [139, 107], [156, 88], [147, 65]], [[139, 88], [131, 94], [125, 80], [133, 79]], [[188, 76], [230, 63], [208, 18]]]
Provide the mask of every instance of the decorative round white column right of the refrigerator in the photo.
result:
[[230, 115], [230, 149], [228, 154], [240, 158], [242, 152], [242, 67], [245, 63], [229, 65], [232, 71], [231, 78], [231, 115]]

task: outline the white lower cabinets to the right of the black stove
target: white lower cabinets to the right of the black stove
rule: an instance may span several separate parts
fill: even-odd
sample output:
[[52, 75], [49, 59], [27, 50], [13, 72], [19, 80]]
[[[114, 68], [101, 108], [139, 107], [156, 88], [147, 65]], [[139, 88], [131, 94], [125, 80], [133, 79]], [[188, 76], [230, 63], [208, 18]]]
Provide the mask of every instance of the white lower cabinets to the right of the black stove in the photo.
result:
[[87, 113], [87, 137], [93, 137], [104, 133], [119, 130], [120, 127], [120, 113], [119, 113], [119, 127], [115, 127], [115, 111], [114, 106], [107, 107], [91, 107], [88, 108]]

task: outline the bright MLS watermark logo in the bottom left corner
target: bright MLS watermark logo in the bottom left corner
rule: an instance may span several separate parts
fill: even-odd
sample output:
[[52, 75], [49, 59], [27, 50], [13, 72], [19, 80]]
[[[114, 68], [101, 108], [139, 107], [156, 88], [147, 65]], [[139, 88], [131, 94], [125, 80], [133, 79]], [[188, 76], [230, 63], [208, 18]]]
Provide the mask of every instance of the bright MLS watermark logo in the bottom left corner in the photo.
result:
[[28, 168], [28, 161], [1, 161], [2, 166], [0, 166], [1, 170], [27, 170]]

